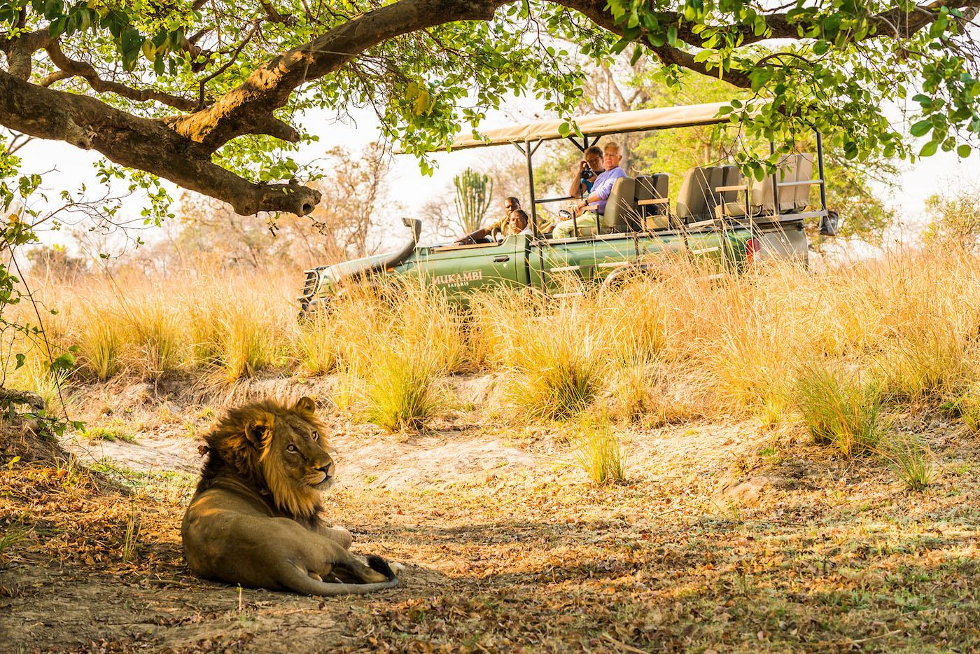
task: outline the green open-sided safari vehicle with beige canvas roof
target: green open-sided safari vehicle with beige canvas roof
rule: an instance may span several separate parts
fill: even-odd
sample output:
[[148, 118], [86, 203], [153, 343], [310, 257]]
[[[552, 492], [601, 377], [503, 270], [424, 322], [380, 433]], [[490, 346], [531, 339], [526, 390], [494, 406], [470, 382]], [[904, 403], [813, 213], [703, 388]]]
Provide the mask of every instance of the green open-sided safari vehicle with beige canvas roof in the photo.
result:
[[[601, 137], [631, 131], [725, 123], [723, 103], [620, 112], [576, 119], [581, 136], [563, 135], [561, 121], [490, 129], [482, 139], [462, 136], [453, 150], [494, 145], [517, 147], [527, 159], [530, 234], [486, 243], [419, 245], [421, 224], [405, 219], [412, 238], [397, 251], [306, 271], [301, 311], [329, 302], [344, 285], [384, 276], [424, 277], [465, 304], [475, 291], [534, 286], [552, 295], [569, 291], [569, 276], [588, 284], [612, 284], [636, 271], [652, 270], [664, 253], [711, 257], [727, 270], [743, 271], [761, 260], [795, 259], [807, 264], [804, 221], [820, 221], [821, 233], [836, 233], [837, 217], [826, 207], [823, 151], [816, 134], [816, 177], [811, 154], [785, 156], [771, 176], [747, 181], [737, 167], [692, 168], [680, 181], [677, 201], [668, 200], [670, 179], [649, 175], [615, 181], [597, 227], [575, 226], [569, 238], [541, 231], [538, 207], [572, 197], [537, 198], [532, 158], [544, 141], [565, 138], [585, 151]], [[581, 140], [579, 140], [581, 138]], [[770, 144], [770, 151], [773, 151]], [[819, 206], [809, 206], [810, 187], [819, 186]]]

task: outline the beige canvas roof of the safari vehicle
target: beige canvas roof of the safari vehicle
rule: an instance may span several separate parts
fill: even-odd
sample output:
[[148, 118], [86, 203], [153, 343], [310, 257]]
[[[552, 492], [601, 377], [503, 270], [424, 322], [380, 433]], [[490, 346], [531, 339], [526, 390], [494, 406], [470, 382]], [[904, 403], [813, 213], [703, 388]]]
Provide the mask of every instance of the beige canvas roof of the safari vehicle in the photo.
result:
[[[640, 109], [614, 114], [594, 114], [575, 118], [578, 128], [588, 136], [619, 134], [627, 131], [648, 131], [669, 127], [690, 127], [696, 125], [716, 125], [728, 122], [728, 116], [718, 116], [718, 108], [727, 102], [714, 102], [703, 105], [680, 107], [660, 107]], [[473, 138], [472, 134], [460, 135], [453, 142], [454, 150], [476, 148], [504, 143], [523, 143], [524, 141], [550, 141], [564, 138], [559, 126], [564, 121], [539, 121], [526, 125], [515, 125], [486, 129], [480, 133], [486, 138]]]

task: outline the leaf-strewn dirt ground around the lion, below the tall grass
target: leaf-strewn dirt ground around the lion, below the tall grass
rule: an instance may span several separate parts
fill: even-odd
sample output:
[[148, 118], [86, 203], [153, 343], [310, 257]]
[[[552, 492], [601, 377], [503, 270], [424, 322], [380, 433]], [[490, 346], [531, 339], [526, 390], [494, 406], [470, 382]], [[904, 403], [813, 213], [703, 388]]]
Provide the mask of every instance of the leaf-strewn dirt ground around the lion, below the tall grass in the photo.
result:
[[980, 649], [980, 439], [930, 414], [907, 421], [939, 466], [913, 493], [877, 460], [753, 422], [628, 430], [629, 481], [596, 487], [562, 428], [460, 410], [391, 435], [326, 411], [342, 476], [329, 514], [406, 570], [394, 590], [319, 599], [184, 566], [194, 434], [214, 403], [86, 397], [81, 418], [116, 440], [69, 444], [98, 474], [0, 469], [0, 651]]

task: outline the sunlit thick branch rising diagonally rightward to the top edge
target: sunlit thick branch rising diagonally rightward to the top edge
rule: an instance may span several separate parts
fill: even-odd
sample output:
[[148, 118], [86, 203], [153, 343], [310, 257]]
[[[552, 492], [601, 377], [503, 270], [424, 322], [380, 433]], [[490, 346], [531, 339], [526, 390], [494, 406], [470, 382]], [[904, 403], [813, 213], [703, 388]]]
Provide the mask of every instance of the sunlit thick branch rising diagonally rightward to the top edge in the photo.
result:
[[172, 119], [172, 129], [211, 151], [254, 133], [298, 86], [336, 71], [395, 36], [453, 21], [489, 21], [506, 0], [401, 0], [368, 12], [266, 63], [213, 105]]

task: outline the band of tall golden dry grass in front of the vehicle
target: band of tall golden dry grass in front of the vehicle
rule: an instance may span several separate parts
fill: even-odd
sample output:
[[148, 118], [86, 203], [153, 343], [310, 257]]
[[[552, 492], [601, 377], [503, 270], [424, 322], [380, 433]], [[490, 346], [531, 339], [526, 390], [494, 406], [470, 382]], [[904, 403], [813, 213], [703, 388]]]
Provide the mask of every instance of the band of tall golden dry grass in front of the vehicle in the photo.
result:
[[[872, 403], [867, 388], [851, 397], [846, 378], [824, 389], [824, 399], [858, 398], [856, 420], [881, 403], [949, 402], [970, 421], [980, 413], [977, 256], [903, 252], [819, 274], [790, 265], [714, 272], [679, 259], [609, 292], [480, 296], [467, 315], [410, 280], [383, 292], [348, 289], [304, 324], [292, 301], [299, 276], [278, 272], [90, 278], [47, 288], [46, 303], [70, 309], [49, 333], [59, 347], [79, 346], [72, 380], [180, 371], [229, 383], [343, 371], [362, 389], [373, 384], [368, 403], [424, 406], [421, 390], [438, 377], [493, 372], [505, 376], [501, 408], [516, 420], [601, 411], [622, 422], [729, 415], [772, 426], [801, 410], [809, 422], [816, 386], [800, 380], [821, 369], [875, 379]], [[43, 369], [6, 373], [8, 385], [51, 395]], [[380, 399], [397, 386], [411, 388], [397, 402]], [[391, 424], [415, 424], [416, 410], [406, 412]]]

